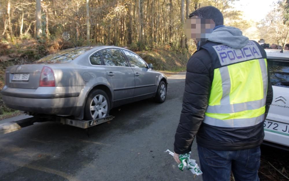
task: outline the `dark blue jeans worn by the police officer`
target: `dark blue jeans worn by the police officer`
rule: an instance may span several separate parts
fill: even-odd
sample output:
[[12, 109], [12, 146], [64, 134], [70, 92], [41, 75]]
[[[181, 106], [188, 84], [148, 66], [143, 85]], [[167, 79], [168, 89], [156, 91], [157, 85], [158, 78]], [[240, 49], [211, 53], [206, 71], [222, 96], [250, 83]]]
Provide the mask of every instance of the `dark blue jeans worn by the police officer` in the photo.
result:
[[246, 150], [211, 150], [199, 146], [203, 181], [229, 181], [231, 171], [236, 181], [259, 181], [260, 146]]

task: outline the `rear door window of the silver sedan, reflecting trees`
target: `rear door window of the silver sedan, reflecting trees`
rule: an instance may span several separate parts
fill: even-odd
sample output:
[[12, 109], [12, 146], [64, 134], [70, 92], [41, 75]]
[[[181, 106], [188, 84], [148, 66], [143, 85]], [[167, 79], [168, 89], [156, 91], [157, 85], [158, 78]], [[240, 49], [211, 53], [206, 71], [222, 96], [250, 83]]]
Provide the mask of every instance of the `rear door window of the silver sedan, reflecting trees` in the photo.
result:
[[103, 57], [105, 65], [129, 67], [123, 55], [123, 52], [121, 52], [120, 49], [117, 48], [104, 49], [101, 50], [101, 55]]

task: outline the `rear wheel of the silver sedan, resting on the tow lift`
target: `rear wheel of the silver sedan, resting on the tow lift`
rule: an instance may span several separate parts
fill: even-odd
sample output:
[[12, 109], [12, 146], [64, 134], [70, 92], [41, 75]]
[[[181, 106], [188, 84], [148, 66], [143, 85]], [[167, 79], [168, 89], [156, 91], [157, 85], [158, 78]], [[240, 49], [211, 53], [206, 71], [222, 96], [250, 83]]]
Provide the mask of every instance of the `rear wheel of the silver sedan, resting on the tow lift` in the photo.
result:
[[95, 89], [89, 93], [84, 107], [84, 120], [106, 117], [109, 111], [110, 100], [103, 90]]

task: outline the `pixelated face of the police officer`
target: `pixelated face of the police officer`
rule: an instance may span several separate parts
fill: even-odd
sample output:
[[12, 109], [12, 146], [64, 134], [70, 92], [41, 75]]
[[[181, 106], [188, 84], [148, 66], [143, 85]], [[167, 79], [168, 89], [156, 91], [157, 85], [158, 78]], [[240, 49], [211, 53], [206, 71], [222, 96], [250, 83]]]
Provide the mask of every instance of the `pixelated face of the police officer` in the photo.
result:
[[199, 18], [192, 16], [188, 18], [184, 24], [185, 34], [188, 38], [205, 42], [215, 27], [212, 19]]

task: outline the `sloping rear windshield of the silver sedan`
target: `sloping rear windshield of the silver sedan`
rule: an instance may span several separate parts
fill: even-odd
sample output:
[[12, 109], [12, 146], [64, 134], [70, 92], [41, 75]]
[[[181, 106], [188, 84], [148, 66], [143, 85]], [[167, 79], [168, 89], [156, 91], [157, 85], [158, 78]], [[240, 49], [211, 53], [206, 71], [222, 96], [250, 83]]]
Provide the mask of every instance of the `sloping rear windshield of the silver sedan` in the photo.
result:
[[53, 53], [39, 59], [34, 63], [68, 63], [75, 59], [77, 56], [83, 54], [87, 50], [90, 50], [92, 47], [77, 47], [77, 48], [69, 48], [66, 50], [59, 51], [57, 53]]

